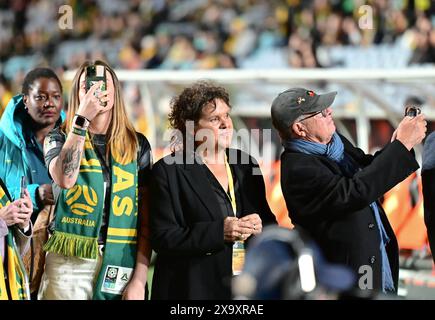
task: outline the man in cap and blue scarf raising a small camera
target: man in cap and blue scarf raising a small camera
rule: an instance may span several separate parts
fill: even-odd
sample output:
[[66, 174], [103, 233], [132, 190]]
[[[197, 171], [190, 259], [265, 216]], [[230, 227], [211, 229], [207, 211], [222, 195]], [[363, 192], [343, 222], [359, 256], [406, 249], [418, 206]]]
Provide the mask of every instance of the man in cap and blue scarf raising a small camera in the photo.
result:
[[356, 283], [361, 289], [396, 292], [398, 246], [378, 199], [418, 169], [412, 148], [425, 137], [426, 121], [423, 115], [405, 117], [391, 142], [367, 155], [336, 132], [331, 108], [336, 94], [293, 88], [272, 103], [284, 146], [281, 188], [287, 209], [327, 259], [356, 273], [371, 267], [373, 278]]

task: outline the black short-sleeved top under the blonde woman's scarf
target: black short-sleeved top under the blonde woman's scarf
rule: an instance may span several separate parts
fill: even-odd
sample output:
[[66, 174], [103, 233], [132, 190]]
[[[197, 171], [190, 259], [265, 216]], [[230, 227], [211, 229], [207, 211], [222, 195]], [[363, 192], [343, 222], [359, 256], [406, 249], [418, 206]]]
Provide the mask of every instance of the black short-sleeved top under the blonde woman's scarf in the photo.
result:
[[[144, 187], [148, 185], [151, 167], [152, 167], [152, 153], [151, 146], [145, 136], [139, 132], [136, 132], [139, 149], [137, 154], [137, 165], [138, 165], [138, 186]], [[59, 127], [53, 129], [47, 136], [50, 139], [50, 149], [46, 151], [45, 163], [47, 168], [50, 166], [51, 160], [57, 157], [65, 143], [66, 135], [60, 130]], [[104, 196], [104, 208], [103, 208], [103, 221], [100, 230], [100, 236], [98, 239], [99, 244], [104, 244], [107, 235], [107, 218], [109, 216], [110, 208], [110, 189], [112, 185], [112, 167], [110, 165], [110, 159], [106, 160], [106, 135], [94, 134], [91, 136], [92, 143], [94, 145], [95, 153], [97, 154], [98, 160], [100, 161], [103, 179], [105, 186], [105, 196]], [[57, 201], [60, 194], [60, 187], [53, 183], [53, 195], [55, 201]], [[51, 226], [53, 227], [53, 226]]]

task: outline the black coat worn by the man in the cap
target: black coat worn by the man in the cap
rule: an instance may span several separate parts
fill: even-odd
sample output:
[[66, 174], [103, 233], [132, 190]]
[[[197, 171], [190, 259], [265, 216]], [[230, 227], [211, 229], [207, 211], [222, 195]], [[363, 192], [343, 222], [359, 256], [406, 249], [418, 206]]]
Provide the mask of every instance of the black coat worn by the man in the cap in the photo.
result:
[[[341, 138], [345, 152], [363, 168], [353, 178], [345, 177], [337, 163], [325, 156], [285, 151], [281, 187], [292, 222], [310, 233], [326, 258], [350, 266], [356, 274], [361, 266], [371, 266], [373, 288], [379, 290], [380, 234], [369, 205], [414, 172], [418, 163], [397, 140], [371, 156]], [[397, 290], [398, 245], [385, 212], [379, 208], [391, 239], [387, 253]]]

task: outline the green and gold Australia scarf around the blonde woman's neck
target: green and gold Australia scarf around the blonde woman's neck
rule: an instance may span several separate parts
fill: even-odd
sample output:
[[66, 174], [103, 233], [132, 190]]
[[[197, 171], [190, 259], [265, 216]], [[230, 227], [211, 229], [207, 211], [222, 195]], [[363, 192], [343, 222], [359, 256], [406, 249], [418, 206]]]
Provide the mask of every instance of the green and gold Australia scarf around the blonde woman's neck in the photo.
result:
[[[119, 299], [136, 261], [137, 161], [126, 165], [112, 156], [112, 188], [107, 239], [94, 299]], [[102, 224], [104, 179], [89, 137], [76, 184], [62, 190], [56, 204], [55, 231], [44, 250], [97, 259]]]

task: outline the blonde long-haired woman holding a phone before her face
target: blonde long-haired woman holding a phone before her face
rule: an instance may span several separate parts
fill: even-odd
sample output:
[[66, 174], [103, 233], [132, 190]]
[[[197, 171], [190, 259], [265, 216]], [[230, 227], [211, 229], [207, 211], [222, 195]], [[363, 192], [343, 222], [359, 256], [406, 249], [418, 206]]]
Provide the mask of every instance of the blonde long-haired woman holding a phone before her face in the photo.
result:
[[[104, 81], [87, 88], [88, 66], [104, 67], [106, 88]], [[44, 154], [56, 209], [38, 297], [144, 299], [151, 147], [128, 120], [106, 63], [80, 66], [67, 119], [45, 139]]]

